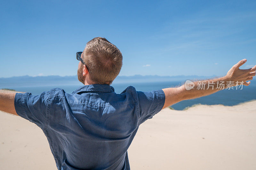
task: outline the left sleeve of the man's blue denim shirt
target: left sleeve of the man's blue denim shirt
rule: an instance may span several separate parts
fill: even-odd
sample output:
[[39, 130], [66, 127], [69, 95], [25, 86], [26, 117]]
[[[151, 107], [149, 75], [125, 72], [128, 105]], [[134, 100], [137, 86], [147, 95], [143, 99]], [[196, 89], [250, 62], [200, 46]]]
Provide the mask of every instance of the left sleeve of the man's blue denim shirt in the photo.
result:
[[14, 98], [16, 113], [43, 129], [46, 125], [49, 98], [50, 91], [44, 91], [37, 96], [31, 93], [16, 93]]

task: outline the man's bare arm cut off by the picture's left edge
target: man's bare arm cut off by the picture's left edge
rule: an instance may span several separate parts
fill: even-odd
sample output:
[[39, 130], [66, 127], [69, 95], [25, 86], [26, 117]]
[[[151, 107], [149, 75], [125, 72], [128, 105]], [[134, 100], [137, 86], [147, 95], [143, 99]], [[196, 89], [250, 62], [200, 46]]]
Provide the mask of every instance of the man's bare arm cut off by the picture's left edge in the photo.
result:
[[17, 115], [14, 107], [14, 98], [16, 93], [2, 93], [0, 92], [0, 110]]

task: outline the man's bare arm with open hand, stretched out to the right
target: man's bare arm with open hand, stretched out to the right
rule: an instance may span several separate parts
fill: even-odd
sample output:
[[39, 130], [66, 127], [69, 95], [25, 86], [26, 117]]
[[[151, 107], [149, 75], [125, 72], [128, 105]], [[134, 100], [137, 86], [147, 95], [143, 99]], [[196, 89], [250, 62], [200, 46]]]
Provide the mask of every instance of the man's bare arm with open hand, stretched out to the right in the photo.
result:
[[[239, 69], [239, 67], [242, 66], [245, 62], [246, 62], [246, 59], [239, 61], [228, 71], [227, 75], [224, 77], [211, 79], [211, 80], [204, 80], [205, 86], [206, 87], [208, 86], [207, 89], [196, 88], [199, 83], [202, 83], [202, 81], [194, 81], [194, 82], [191, 81], [194, 84], [192, 89], [186, 89], [186, 84], [183, 84], [178, 88], [162, 89], [165, 94], [165, 103], [164, 103], [163, 109], [172, 104], [178, 103], [182, 100], [195, 99], [195, 98], [211, 95], [227, 87], [237, 86], [237, 85], [249, 86], [251, 83], [249, 80], [252, 80], [252, 77], [255, 76], [256, 74], [255, 73], [256, 65], [249, 69]], [[218, 88], [218, 82], [223, 82], [224, 87], [222, 89]], [[234, 82], [234, 84], [228, 84], [228, 82]], [[211, 85], [212, 88], [209, 88], [210, 83], [212, 84]]]

